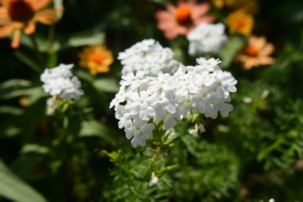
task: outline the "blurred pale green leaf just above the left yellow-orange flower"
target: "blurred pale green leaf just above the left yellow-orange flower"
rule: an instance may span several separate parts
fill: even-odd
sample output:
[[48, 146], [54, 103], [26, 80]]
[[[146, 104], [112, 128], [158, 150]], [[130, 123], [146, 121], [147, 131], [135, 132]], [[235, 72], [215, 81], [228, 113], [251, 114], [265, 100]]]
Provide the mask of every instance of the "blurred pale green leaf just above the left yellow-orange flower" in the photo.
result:
[[86, 45], [102, 45], [104, 43], [105, 43], [104, 32], [87, 30], [70, 35], [66, 40], [64, 47], [68, 48], [68, 47], [79, 47]]

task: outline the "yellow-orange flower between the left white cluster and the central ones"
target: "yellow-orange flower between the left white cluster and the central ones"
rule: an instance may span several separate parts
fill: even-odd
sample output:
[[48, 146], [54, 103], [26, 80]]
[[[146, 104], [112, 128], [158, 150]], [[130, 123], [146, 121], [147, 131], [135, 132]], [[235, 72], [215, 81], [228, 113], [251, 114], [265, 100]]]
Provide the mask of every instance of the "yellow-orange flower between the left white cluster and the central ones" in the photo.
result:
[[110, 70], [109, 65], [114, 62], [112, 51], [106, 45], [87, 46], [78, 53], [79, 65], [88, 68], [92, 75], [106, 73]]

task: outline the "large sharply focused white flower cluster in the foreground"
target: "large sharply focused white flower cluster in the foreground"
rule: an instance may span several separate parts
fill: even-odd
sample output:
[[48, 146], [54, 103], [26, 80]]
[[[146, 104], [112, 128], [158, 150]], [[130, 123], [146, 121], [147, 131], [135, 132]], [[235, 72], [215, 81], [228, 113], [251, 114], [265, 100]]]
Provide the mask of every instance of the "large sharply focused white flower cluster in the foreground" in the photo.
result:
[[[227, 117], [233, 110], [225, 102], [231, 101], [229, 92], [237, 91], [235, 78], [220, 69], [219, 59], [197, 58], [197, 62], [196, 66], [180, 63], [173, 75], [158, 71], [158, 77], [149, 77], [144, 76], [145, 70], [138, 70], [136, 75], [128, 72], [122, 76], [122, 86], [110, 108], [115, 106], [118, 126], [125, 127], [128, 139], [133, 137], [134, 147], [145, 146], [145, 138], [151, 138], [155, 129], [153, 123], [163, 120], [168, 130], [177, 124], [175, 119], [188, 118], [191, 112], [217, 118], [218, 111]], [[125, 105], [120, 104], [124, 101]], [[148, 123], [151, 118], [153, 123]]]

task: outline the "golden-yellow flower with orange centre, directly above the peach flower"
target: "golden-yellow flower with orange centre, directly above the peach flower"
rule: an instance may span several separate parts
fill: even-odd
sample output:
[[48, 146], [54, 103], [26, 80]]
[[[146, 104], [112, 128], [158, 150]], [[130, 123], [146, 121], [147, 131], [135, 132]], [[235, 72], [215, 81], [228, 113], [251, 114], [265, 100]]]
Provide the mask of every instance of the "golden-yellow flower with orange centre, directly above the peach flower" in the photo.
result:
[[254, 17], [245, 9], [240, 9], [227, 16], [227, 26], [231, 31], [237, 31], [243, 35], [251, 35], [254, 25]]

